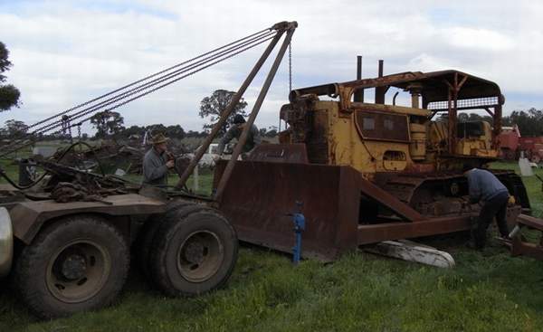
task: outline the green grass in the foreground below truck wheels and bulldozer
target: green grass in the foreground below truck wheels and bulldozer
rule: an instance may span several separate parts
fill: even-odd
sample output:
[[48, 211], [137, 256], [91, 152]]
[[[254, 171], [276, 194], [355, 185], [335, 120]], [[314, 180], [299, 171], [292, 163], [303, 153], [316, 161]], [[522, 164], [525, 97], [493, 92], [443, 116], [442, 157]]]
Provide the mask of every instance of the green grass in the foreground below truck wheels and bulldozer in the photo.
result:
[[[523, 180], [541, 216], [541, 184]], [[226, 287], [194, 299], [167, 299], [132, 269], [115, 306], [49, 322], [3, 283], [0, 331], [543, 330], [543, 262], [511, 258], [495, 242], [482, 253], [457, 242], [452, 270], [362, 252], [293, 267], [287, 255], [243, 248]]]

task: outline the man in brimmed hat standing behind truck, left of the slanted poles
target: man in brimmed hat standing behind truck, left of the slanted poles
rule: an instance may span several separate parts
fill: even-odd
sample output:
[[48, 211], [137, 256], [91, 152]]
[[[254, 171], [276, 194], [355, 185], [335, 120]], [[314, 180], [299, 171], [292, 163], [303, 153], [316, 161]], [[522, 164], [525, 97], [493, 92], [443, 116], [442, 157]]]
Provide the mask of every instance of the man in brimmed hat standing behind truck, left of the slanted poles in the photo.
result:
[[167, 170], [175, 166], [175, 161], [167, 158], [167, 141], [163, 134], [151, 138], [153, 147], [143, 157], [144, 185], [167, 185]]

